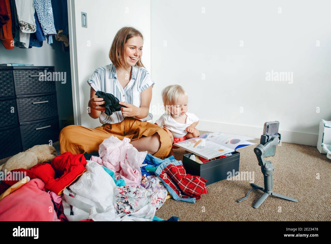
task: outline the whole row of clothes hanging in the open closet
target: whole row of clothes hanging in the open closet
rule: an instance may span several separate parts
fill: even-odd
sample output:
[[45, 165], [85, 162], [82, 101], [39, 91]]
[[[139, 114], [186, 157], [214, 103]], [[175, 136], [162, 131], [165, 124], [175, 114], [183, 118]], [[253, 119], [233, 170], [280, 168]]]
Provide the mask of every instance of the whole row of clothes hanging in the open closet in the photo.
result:
[[45, 40], [53, 43], [55, 35], [69, 51], [67, 0], [1, 0], [0, 32], [7, 49], [41, 47]]

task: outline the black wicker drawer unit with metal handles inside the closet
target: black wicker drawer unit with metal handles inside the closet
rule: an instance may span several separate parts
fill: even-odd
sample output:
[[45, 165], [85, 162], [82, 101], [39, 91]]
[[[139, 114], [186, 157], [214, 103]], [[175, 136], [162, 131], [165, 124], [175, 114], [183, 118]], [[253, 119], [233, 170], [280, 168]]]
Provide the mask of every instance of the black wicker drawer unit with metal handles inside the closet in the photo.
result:
[[58, 141], [56, 84], [48, 72], [54, 66], [0, 66], [0, 159]]

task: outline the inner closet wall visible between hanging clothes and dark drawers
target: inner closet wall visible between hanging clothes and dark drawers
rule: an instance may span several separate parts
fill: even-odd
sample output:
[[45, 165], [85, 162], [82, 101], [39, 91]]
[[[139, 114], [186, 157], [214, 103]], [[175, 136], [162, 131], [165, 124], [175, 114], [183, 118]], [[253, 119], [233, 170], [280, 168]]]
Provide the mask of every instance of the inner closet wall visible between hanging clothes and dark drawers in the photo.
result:
[[60, 127], [61, 120], [72, 115], [70, 53], [62, 51], [62, 43], [43, 42], [42, 47], [5, 49], [0, 43], [0, 63], [24, 63], [34, 66], [54, 66], [55, 72], [67, 72], [66, 83], [56, 82], [57, 102]]

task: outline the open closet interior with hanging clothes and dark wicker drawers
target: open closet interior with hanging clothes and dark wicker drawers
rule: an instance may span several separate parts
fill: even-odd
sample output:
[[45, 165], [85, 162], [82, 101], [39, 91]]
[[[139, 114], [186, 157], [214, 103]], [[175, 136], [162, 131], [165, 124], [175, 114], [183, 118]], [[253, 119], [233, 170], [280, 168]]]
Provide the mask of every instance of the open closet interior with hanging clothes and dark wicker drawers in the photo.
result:
[[0, 6], [0, 164], [74, 124], [67, 0]]

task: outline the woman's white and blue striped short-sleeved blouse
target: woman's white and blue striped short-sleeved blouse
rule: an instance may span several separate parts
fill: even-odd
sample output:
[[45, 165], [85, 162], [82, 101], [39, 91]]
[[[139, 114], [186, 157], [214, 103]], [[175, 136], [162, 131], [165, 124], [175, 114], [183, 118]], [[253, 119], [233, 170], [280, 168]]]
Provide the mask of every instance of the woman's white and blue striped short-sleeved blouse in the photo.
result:
[[[87, 83], [97, 92], [103, 91], [111, 93], [118, 98], [121, 102], [133, 104], [136, 107], [140, 107], [140, 93], [146, 90], [148, 87], [154, 86], [154, 82], [151, 79], [149, 72], [139, 66], [132, 66], [132, 74], [130, 82], [123, 87], [119, 83], [116, 74], [116, 67], [113, 64], [108, 64], [97, 68], [88, 79]], [[134, 118], [134, 117], [133, 117]], [[148, 116], [141, 121], [152, 120], [153, 115], [148, 113]], [[99, 120], [102, 124], [115, 124], [122, 122], [124, 116], [121, 111], [113, 113], [111, 116], [102, 112]]]

